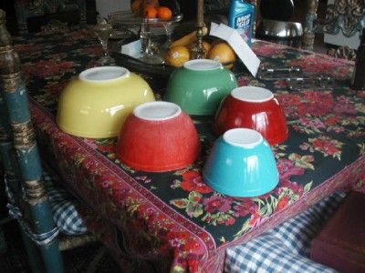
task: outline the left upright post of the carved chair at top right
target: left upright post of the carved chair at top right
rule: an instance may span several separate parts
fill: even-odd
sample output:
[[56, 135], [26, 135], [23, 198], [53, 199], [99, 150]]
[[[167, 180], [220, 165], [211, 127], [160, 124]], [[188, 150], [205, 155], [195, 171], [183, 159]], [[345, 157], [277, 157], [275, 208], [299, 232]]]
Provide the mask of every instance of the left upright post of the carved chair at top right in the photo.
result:
[[315, 21], [317, 19], [318, 0], [307, 1], [307, 14], [304, 22], [302, 48], [313, 50], [315, 38]]

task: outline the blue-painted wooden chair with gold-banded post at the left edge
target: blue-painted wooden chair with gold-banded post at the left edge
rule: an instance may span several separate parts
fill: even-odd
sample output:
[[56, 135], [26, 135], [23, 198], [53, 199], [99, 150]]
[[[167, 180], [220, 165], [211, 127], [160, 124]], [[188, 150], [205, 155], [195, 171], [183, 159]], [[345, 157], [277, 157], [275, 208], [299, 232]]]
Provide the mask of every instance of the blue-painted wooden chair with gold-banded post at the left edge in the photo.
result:
[[[21, 64], [5, 27], [5, 12], [0, 10], [0, 153], [5, 172], [10, 212], [21, 227], [30, 266], [37, 272], [64, 272], [58, 233], [48, 200], [43, 164], [36, 144], [26, 84]], [[76, 237], [77, 247], [94, 238]], [[36, 242], [36, 243], [35, 243]], [[40, 249], [41, 258], [38, 257]], [[43, 270], [42, 270], [43, 271]]]

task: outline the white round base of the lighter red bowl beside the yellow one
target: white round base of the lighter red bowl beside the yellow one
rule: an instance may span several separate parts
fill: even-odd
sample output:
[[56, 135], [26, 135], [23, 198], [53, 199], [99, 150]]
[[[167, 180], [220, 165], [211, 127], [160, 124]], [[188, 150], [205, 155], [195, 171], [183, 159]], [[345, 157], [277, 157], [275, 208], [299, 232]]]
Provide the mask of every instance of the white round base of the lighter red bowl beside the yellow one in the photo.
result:
[[133, 115], [143, 120], [163, 121], [182, 114], [180, 106], [166, 101], [151, 101], [134, 107]]

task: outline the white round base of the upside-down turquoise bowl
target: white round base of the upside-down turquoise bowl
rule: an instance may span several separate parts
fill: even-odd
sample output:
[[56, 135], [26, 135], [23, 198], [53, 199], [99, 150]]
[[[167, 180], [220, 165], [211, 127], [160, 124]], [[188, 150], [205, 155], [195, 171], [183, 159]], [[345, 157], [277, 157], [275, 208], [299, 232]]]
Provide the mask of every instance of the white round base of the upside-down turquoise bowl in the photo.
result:
[[234, 128], [226, 131], [223, 139], [235, 147], [253, 148], [260, 144], [264, 137], [253, 129]]

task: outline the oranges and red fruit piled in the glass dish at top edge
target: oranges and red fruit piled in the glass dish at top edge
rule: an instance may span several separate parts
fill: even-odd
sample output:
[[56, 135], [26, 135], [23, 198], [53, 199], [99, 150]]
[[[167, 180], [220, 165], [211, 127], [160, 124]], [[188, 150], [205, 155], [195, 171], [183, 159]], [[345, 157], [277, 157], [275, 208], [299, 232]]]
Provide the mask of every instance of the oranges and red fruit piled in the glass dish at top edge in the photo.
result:
[[168, 6], [161, 6], [158, 0], [134, 0], [130, 9], [143, 18], [159, 18], [163, 21], [172, 19], [172, 10]]

